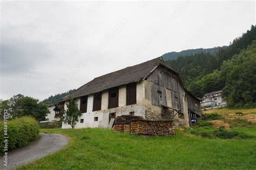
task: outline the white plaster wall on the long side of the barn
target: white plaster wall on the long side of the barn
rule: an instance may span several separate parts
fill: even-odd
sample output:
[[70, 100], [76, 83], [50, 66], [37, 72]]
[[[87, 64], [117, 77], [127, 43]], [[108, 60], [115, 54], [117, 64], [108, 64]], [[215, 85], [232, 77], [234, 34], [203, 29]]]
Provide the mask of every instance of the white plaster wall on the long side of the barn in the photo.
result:
[[[135, 116], [142, 116], [145, 118], [145, 107], [143, 103], [145, 102], [145, 83], [147, 81], [142, 81], [137, 83], [137, 104], [126, 105], [126, 86], [119, 87], [118, 92], [118, 108], [107, 109], [109, 101], [109, 91], [104, 90], [102, 93], [102, 110], [92, 111], [93, 107], [93, 95], [88, 96], [87, 100], [87, 112], [83, 113], [82, 116], [78, 118], [78, 122], [75, 128], [107, 128], [109, 125], [109, 114], [116, 112], [117, 116], [129, 115], [130, 112], [134, 111]], [[151, 89], [148, 89], [151, 91]], [[151, 97], [151, 93], [149, 95]], [[151, 101], [150, 101], [151, 102]], [[79, 100], [80, 108], [80, 100]], [[65, 107], [66, 109], [66, 104]], [[98, 121], [94, 121], [95, 117], [98, 117]], [[80, 119], [84, 119], [83, 123], [80, 123]], [[62, 125], [63, 129], [71, 128], [68, 124]]]

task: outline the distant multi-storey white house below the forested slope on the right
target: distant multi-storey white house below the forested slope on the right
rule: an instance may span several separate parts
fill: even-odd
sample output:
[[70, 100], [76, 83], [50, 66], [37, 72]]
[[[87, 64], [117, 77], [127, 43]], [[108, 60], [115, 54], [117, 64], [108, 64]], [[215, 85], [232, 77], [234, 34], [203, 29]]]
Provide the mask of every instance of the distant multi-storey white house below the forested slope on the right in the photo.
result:
[[213, 91], [204, 95], [201, 101], [201, 108], [203, 109], [212, 109], [225, 107], [227, 102], [223, 100], [222, 90]]

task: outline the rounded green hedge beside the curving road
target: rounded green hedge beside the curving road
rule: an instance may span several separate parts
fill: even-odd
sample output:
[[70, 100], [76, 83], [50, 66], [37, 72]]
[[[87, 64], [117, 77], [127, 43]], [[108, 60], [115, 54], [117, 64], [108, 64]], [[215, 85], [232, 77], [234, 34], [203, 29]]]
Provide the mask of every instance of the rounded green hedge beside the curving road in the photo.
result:
[[[28, 145], [38, 138], [39, 126], [31, 117], [8, 121], [8, 150]], [[4, 122], [0, 122], [0, 153], [4, 153]]]

